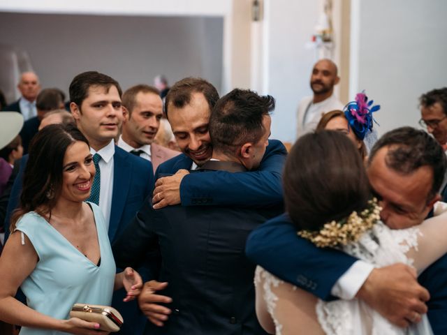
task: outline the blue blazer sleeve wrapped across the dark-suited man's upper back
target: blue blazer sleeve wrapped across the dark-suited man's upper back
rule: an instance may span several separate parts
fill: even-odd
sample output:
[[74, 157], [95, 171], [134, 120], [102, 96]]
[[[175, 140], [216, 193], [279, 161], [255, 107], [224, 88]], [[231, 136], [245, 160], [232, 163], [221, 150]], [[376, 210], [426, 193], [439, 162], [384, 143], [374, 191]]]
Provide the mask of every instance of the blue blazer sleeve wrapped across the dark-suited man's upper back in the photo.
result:
[[188, 174], [180, 184], [182, 205], [243, 204], [261, 207], [281, 204], [281, 176], [286, 155], [284, 144], [278, 140], [269, 140], [261, 165], [256, 171]]

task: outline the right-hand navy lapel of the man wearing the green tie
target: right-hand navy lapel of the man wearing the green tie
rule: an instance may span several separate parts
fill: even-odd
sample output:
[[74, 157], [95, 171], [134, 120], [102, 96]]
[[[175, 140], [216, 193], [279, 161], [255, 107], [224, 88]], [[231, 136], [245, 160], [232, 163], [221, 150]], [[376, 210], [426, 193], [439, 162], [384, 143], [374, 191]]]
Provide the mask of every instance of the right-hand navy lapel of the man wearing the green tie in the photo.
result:
[[115, 146], [113, 155], [113, 193], [112, 209], [110, 209], [109, 239], [113, 241], [121, 221], [127, 194], [131, 185], [131, 163], [126, 153]]

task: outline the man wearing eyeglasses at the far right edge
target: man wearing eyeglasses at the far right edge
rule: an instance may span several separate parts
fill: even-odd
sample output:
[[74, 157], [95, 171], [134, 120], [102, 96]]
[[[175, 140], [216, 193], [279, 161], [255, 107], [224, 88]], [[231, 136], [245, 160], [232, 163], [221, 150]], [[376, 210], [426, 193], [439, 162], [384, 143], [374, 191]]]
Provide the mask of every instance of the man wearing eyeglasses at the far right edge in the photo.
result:
[[[433, 89], [419, 98], [420, 126], [432, 134], [447, 154], [447, 87]], [[447, 174], [441, 185], [441, 196], [447, 201]]]

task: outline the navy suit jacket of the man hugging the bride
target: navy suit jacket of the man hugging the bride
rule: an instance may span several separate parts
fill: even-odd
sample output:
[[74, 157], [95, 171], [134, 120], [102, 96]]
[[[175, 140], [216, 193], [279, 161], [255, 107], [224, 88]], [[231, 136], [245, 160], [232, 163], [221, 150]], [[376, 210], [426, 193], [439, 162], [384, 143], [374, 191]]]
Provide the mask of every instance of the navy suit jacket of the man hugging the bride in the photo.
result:
[[[335, 299], [330, 294], [332, 286], [357, 260], [332, 248], [317, 248], [298, 237], [287, 214], [251, 232], [246, 253], [275, 276], [323, 300]], [[427, 315], [434, 334], [447, 334], [447, 255], [427, 267], [418, 281], [430, 292]]]

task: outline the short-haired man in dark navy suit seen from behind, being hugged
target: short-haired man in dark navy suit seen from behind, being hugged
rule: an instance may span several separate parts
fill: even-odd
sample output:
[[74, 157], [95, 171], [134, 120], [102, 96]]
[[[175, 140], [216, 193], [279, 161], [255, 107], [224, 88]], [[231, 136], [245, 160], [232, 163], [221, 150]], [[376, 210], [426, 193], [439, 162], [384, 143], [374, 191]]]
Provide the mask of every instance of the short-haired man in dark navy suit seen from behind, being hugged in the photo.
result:
[[[194, 173], [225, 171], [237, 178], [256, 169], [269, 145], [273, 107], [271, 96], [248, 90], [221, 98], [210, 119], [212, 158]], [[281, 210], [221, 205], [155, 210], [149, 198], [113, 246], [118, 266], [138, 266], [146, 251], [161, 250], [159, 280], [168, 283], [163, 295], [171, 303], [160, 308], [172, 313], [169, 320], [149, 315], [155, 325], [148, 323], [145, 334], [265, 334], [255, 313], [254, 265], [244, 256], [244, 245], [251, 230]]]

